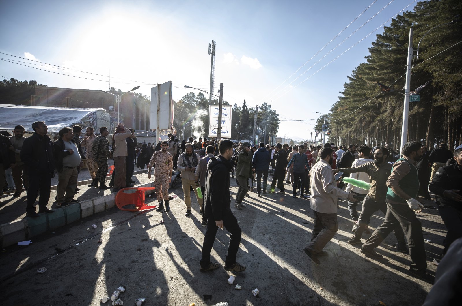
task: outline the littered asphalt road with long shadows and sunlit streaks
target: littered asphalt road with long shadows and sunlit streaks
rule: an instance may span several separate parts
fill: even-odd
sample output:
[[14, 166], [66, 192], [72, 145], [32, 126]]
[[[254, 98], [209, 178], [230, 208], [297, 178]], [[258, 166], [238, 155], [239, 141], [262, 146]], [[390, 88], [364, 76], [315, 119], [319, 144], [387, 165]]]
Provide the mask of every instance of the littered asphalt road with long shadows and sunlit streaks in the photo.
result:
[[[235, 185], [231, 191], [234, 197]], [[223, 268], [199, 271], [205, 228], [194, 195], [193, 214], [186, 217], [181, 186], [170, 192], [178, 197], [170, 201], [169, 213], [113, 208], [35, 237], [28, 246], [3, 250], [2, 304], [103, 305], [103, 296], [125, 285], [124, 305], [134, 305], [140, 297], [146, 298], [143, 305], [177, 306], [220, 301], [229, 305], [379, 305], [379, 301], [388, 306], [421, 305], [431, 288], [407, 274], [410, 258], [395, 251], [393, 234], [377, 249], [384, 255], [379, 261], [361, 254], [360, 245], [346, 243], [352, 236], [352, 221], [343, 201], [339, 201], [339, 231], [324, 249], [328, 255], [320, 258], [320, 265], [314, 264], [302, 250], [313, 228], [309, 200], [289, 194], [257, 198], [255, 192], [245, 198], [247, 208], [232, 208], [243, 231], [237, 261], [247, 270], [236, 274], [236, 281], [229, 285], [231, 273]], [[150, 201], [157, 204], [154, 197]], [[383, 217], [377, 212], [370, 228], [377, 227]], [[440, 259], [444, 224], [437, 210], [418, 217], [424, 238], [432, 241], [425, 247], [428, 269], [434, 275], [436, 266], [431, 262]], [[219, 230], [212, 260], [224, 265], [228, 241], [226, 230]], [[40, 267], [48, 270], [39, 274]], [[242, 289], [235, 290], [235, 284]], [[256, 297], [251, 293], [255, 288], [260, 291]], [[211, 298], [204, 300], [204, 296]]]

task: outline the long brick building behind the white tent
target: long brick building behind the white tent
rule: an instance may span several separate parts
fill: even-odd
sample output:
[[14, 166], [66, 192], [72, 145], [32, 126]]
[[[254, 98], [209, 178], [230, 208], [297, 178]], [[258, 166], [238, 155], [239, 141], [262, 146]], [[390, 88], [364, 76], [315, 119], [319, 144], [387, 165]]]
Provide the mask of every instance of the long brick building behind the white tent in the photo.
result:
[[[122, 95], [124, 92], [112, 93]], [[30, 105], [104, 108], [112, 120], [117, 121], [116, 97], [99, 90], [36, 86]], [[150, 101], [135, 97], [133, 92], [129, 92], [122, 96], [120, 107], [120, 121], [125, 126], [135, 130], [149, 129]]]

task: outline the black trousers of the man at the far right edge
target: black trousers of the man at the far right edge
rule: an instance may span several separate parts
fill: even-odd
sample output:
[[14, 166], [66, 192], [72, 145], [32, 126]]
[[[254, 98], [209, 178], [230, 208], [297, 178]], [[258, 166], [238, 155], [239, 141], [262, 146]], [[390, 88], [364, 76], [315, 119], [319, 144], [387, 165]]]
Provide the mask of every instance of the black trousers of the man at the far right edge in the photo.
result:
[[453, 243], [457, 238], [462, 237], [462, 210], [451, 206], [441, 205], [439, 202], [437, 202], [437, 204], [439, 215], [448, 229], [446, 238], [444, 238], [443, 241], [444, 255], [448, 251], [451, 243]]

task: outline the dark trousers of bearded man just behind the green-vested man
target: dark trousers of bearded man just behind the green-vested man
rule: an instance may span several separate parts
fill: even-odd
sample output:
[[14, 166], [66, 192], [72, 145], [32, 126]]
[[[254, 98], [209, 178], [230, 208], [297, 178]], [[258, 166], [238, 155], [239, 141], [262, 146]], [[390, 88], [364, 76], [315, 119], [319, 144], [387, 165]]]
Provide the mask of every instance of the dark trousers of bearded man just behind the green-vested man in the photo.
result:
[[[350, 201], [348, 201], [348, 209], [350, 209], [349, 204], [350, 204]], [[377, 210], [381, 210], [383, 214], [386, 215], [387, 214], [387, 204], [385, 202], [376, 202], [373, 199], [366, 196], [363, 201], [363, 209], [361, 210], [361, 214], [359, 215], [359, 218], [357, 220], [358, 227], [354, 231], [354, 234], [357, 238], [361, 238], [366, 226], [369, 224], [369, 221], [371, 221], [371, 216]], [[355, 211], [356, 211], [356, 206], [355, 206]], [[393, 233], [395, 234], [395, 237], [398, 240], [398, 242], [401, 242], [401, 243], [406, 242], [406, 240], [404, 240], [404, 233], [401, 228], [401, 224], [399, 223], [396, 224], [395, 229], [393, 230]]]

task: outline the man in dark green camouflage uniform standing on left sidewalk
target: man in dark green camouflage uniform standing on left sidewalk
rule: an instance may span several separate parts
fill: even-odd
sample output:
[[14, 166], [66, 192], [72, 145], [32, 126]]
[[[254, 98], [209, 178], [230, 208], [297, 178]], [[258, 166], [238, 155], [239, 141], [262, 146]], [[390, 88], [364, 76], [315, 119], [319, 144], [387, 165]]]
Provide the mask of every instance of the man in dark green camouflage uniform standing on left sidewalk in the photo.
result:
[[95, 179], [99, 181], [99, 189], [108, 189], [109, 187], [104, 185], [106, 181], [106, 174], [108, 173], [108, 156], [111, 155], [109, 151], [108, 135], [109, 131], [106, 127], [99, 129], [100, 136], [93, 140], [91, 147], [91, 154], [98, 164], [98, 171]]

